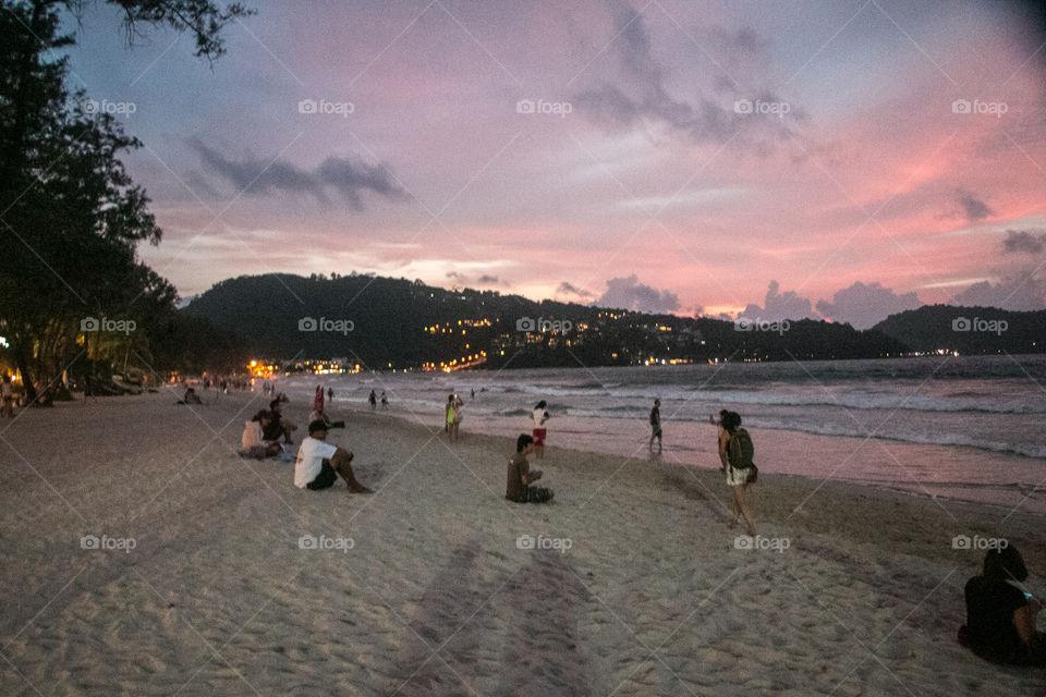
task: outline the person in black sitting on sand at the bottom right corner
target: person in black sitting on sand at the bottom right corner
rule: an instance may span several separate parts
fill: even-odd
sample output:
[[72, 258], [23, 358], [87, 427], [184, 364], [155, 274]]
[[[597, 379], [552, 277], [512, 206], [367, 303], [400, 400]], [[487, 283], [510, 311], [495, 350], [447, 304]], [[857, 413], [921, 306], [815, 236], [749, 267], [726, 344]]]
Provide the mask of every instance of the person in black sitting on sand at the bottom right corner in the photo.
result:
[[983, 573], [966, 582], [965, 643], [981, 658], [1046, 667], [1046, 634], [1035, 631], [1043, 604], [1021, 587], [1026, 578], [1024, 559], [1007, 545], [989, 549]]

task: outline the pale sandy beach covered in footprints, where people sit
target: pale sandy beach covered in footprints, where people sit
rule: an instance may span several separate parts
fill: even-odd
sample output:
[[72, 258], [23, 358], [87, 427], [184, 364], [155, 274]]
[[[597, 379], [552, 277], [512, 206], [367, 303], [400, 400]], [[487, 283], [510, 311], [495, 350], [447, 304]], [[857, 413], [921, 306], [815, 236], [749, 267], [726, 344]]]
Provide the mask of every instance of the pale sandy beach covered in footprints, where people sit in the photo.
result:
[[[329, 440], [376, 493], [313, 492], [292, 464], [236, 455], [260, 395], [177, 399], [0, 421], [0, 694], [1046, 690], [957, 644], [983, 551], [952, 545], [1005, 537], [1046, 590], [1042, 516], [762, 474], [739, 549], [722, 476], [668, 452], [552, 438], [531, 464], [556, 500], [519, 505], [516, 433], [466, 420], [451, 448], [438, 424], [369, 411], [335, 412]], [[306, 404], [284, 413], [304, 427]]]

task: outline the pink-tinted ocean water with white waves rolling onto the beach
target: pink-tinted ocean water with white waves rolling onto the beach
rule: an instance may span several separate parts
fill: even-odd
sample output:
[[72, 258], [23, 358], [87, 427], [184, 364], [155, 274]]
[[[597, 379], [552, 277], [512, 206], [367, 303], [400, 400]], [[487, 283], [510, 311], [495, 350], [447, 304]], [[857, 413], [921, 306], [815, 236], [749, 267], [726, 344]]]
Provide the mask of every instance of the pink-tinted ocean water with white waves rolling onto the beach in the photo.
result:
[[[439, 424], [462, 396], [462, 431], [530, 432], [545, 400], [556, 445], [646, 456], [648, 415], [661, 401], [666, 461], [718, 467], [709, 414], [741, 414], [764, 472], [839, 478], [1046, 513], [1046, 356], [924, 356], [835, 360], [548, 368], [454, 374], [284, 378], [311, 403], [317, 383], [335, 408], [367, 408], [370, 390], [390, 412]], [[475, 399], [471, 391], [475, 390]], [[380, 406], [379, 406], [380, 408]], [[796, 453], [795, 435], [814, 439]], [[810, 438], [799, 439], [810, 442]], [[776, 448], [791, 443], [790, 448]]]

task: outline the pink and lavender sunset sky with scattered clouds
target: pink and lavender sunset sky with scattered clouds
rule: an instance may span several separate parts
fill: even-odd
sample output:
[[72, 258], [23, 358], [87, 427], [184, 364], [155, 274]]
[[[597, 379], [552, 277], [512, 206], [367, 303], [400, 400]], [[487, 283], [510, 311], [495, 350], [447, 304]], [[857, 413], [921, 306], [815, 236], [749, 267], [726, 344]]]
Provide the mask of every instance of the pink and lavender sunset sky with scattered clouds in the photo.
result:
[[[137, 107], [165, 230], [142, 256], [183, 295], [355, 270], [773, 315], [777, 281], [859, 326], [911, 293], [1044, 306], [1046, 36], [1014, 7], [259, 5], [212, 71], [184, 37], [125, 47], [102, 7], [72, 65]], [[858, 282], [892, 293], [817, 310]]]

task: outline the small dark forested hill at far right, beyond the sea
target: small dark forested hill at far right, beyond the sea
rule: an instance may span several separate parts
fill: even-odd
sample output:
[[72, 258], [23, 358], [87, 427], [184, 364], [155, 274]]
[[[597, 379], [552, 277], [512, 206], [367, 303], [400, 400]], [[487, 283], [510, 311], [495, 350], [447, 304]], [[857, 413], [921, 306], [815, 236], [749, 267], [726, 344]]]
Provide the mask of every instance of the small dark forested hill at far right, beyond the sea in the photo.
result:
[[873, 329], [920, 352], [946, 348], [973, 355], [1046, 351], [1046, 309], [1015, 313], [995, 307], [924, 305], [890, 315]]

